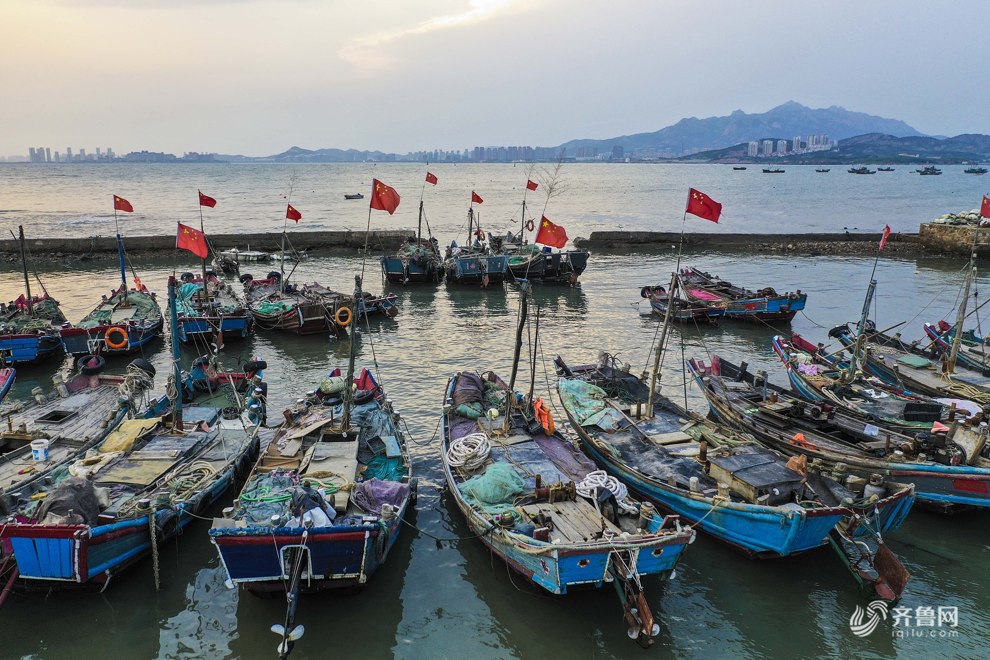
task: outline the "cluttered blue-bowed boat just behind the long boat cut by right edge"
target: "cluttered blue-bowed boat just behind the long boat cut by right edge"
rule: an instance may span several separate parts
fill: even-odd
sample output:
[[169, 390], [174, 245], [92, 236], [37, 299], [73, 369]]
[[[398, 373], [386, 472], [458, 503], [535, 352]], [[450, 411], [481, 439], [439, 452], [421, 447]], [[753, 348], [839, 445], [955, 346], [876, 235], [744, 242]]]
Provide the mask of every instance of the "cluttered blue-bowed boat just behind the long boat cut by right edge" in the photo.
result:
[[808, 401], [826, 400], [844, 406], [864, 419], [908, 435], [931, 432], [933, 424], [947, 419], [948, 406], [862, 373], [800, 335], [792, 335], [790, 341], [774, 335], [771, 345], [787, 369], [794, 391]]

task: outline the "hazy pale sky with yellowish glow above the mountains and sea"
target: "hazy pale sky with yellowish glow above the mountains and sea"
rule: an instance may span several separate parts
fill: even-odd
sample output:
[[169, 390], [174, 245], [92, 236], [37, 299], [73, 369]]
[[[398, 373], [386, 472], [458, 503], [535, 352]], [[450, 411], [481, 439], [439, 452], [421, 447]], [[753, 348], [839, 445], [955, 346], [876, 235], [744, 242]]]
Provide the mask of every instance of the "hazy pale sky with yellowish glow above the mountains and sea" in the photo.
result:
[[0, 154], [554, 146], [787, 100], [990, 132], [986, 2], [0, 0]]

